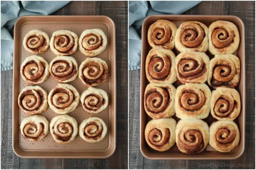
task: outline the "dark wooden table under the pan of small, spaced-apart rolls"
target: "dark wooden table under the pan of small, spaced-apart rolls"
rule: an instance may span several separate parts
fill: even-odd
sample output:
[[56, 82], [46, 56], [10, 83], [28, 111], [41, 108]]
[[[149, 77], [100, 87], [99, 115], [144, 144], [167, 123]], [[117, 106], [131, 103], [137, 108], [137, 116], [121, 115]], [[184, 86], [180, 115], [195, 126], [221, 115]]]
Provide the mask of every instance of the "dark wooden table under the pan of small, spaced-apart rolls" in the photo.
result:
[[23, 159], [12, 150], [12, 70], [1, 72], [2, 169], [128, 168], [128, 2], [73, 1], [52, 15], [106, 15], [116, 24], [117, 141], [107, 159]]

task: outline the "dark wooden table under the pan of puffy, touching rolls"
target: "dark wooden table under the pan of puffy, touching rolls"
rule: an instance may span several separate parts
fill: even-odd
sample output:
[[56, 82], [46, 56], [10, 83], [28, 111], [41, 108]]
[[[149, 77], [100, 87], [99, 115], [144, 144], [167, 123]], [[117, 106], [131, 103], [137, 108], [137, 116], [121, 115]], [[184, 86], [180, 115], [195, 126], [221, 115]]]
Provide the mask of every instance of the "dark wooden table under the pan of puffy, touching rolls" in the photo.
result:
[[230, 161], [155, 161], [139, 149], [140, 70], [129, 71], [129, 169], [255, 169], [255, 1], [203, 1], [185, 15], [236, 15], [245, 25], [245, 151]]

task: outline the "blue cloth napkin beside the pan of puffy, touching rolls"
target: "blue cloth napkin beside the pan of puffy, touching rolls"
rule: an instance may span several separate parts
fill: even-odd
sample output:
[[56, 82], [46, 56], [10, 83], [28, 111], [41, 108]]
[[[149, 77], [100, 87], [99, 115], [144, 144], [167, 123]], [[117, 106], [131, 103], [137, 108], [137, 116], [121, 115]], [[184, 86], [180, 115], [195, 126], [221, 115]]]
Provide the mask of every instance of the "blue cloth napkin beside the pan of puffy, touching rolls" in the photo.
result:
[[129, 70], [140, 68], [141, 37], [138, 33], [150, 15], [181, 14], [201, 1], [129, 1]]

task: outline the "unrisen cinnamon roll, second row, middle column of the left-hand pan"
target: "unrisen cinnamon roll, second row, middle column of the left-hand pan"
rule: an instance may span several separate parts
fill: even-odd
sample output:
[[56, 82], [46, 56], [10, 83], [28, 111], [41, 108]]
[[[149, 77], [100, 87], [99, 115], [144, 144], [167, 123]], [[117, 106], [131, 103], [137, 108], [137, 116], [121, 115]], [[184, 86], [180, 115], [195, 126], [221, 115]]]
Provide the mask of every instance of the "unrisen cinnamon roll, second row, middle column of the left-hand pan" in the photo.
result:
[[50, 74], [61, 83], [71, 82], [78, 75], [78, 64], [71, 56], [57, 56], [49, 67]]

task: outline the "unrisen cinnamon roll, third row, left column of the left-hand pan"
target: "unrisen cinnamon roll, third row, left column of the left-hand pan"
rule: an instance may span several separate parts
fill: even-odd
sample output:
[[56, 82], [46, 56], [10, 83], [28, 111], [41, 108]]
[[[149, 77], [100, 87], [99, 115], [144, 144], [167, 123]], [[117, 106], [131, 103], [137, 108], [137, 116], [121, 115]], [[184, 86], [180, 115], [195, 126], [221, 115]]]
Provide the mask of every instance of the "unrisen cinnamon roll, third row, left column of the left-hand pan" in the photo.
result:
[[41, 114], [48, 107], [47, 92], [39, 86], [27, 86], [20, 92], [18, 104], [27, 114]]

